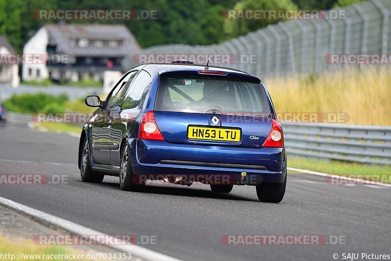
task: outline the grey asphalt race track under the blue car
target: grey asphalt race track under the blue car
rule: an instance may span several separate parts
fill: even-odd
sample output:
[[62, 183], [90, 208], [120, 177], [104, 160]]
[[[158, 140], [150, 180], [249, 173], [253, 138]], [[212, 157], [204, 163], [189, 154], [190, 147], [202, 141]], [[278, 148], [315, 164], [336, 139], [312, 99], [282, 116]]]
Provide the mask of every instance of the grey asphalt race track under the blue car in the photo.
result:
[[[154, 235], [146, 248], [182, 260], [333, 260], [337, 253], [390, 254], [391, 189], [330, 185], [325, 177], [288, 173], [280, 204], [258, 201], [255, 187], [228, 195], [195, 184], [149, 185], [124, 192], [117, 177], [84, 183], [77, 137], [26, 124], [0, 126], [0, 174], [66, 175], [63, 184], [0, 185], [0, 196], [109, 235]], [[288, 161], [289, 164], [289, 161]], [[224, 235], [329, 235], [345, 244], [225, 245]], [[361, 256], [360, 256], [361, 257]]]

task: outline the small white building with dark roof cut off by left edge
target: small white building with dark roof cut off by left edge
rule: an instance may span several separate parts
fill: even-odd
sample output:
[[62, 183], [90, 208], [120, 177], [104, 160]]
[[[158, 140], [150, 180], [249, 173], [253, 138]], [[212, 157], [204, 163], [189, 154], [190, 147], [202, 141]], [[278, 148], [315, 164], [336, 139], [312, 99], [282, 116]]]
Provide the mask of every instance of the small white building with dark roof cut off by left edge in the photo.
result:
[[[0, 55], [8, 56], [9, 54], [16, 55], [16, 52], [8, 40], [0, 36]], [[8, 60], [8, 59], [1, 59]], [[18, 87], [20, 83], [19, 65], [0, 63], [0, 85], [7, 85], [11, 87]]]

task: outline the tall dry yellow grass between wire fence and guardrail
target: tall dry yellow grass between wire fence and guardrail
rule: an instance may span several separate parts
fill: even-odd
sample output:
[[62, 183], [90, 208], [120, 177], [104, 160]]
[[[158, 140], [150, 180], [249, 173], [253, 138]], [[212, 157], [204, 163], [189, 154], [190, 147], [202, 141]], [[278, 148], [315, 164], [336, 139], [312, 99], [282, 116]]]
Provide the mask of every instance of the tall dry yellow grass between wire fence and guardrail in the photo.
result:
[[391, 125], [391, 70], [325, 72], [265, 79], [277, 112], [344, 112], [344, 124]]

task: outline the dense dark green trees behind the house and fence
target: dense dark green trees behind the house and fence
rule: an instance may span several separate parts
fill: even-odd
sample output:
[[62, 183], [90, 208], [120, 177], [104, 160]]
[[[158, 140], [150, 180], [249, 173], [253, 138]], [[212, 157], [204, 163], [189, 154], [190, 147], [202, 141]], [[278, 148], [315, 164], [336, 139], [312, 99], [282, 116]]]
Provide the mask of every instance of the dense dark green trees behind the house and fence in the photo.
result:
[[[226, 20], [226, 10], [240, 9], [329, 9], [361, 0], [0, 0], [0, 34], [5, 35], [18, 53], [31, 32], [43, 24], [38, 9], [135, 9], [157, 10], [158, 20], [86, 21], [69, 23], [124, 23], [141, 47], [184, 43], [213, 44], [263, 28], [278, 20]], [[296, 3], [296, 4], [295, 4]]]

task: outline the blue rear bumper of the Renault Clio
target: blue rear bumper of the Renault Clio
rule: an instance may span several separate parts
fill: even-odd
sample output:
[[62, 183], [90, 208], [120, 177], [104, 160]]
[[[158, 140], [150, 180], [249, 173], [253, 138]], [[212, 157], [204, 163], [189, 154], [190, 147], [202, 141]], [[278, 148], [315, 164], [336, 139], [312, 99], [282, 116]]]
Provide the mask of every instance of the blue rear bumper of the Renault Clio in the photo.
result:
[[[284, 148], [232, 148], [172, 144], [166, 141], [129, 139], [132, 171], [141, 179], [161, 179], [173, 174], [204, 183], [257, 185], [283, 183]], [[243, 176], [242, 173], [245, 173]]]

